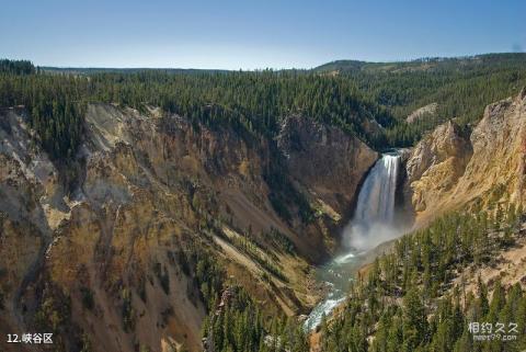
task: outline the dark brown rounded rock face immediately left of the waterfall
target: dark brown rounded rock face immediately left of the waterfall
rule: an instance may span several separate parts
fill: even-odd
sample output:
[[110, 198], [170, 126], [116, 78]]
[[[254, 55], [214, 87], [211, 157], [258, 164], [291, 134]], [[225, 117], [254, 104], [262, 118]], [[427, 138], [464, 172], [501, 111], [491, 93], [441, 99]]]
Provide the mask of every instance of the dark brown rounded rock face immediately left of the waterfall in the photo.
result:
[[378, 159], [358, 138], [300, 116], [285, 120], [278, 146], [290, 174], [339, 214], [348, 211], [359, 182]]

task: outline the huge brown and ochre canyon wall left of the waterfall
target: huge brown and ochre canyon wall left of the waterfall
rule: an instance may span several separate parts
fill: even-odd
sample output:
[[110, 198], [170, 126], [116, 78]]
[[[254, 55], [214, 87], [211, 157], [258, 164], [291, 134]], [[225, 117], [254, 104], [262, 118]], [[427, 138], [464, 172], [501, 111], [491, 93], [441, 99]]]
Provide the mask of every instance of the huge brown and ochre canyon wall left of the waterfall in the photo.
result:
[[[376, 159], [300, 117], [273, 148], [158, 109], [90, 104], [78, 156], [52, 162], [26, 114], [0, 112], [0, 331], [53, 331], [59, 351], [197, 351], [225, 285], [270, 311], [304, 311], [319, 294], [310, 263]], [[290, 218], [276, 213], [276, 172], [310, 218], [295, 202]]]

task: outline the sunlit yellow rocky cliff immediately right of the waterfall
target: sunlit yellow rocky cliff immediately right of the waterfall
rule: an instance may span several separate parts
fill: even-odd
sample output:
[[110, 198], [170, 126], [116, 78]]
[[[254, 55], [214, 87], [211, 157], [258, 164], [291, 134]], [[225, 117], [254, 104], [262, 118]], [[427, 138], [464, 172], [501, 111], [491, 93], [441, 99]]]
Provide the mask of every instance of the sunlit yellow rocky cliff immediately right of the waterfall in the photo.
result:
[[469, 204], [523, 204], [525, 138], [525, 90], [487, 106], [469, 136], [454, 122], [438, 126], [407, 161], [405, 194], [416, 218]]

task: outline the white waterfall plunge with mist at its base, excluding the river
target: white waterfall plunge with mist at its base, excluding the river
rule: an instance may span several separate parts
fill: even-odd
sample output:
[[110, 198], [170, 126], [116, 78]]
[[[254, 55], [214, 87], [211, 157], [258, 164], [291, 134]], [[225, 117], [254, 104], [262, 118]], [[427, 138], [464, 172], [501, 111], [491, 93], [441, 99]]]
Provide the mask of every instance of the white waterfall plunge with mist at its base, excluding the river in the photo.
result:
[[344, 229], [344, 245], [364, 251], [395, 238], [395, 194], [400, 156], [382, 155], [362, 186], [353, 219]]

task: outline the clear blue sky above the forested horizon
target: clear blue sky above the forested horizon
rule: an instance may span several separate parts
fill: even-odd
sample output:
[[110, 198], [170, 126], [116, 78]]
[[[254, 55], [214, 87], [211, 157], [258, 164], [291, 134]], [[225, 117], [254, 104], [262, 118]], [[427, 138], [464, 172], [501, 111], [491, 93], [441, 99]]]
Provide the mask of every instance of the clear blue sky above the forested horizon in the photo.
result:
[[264, 69], [526, 50], [525, 0], [2, 0], [0, 58]]

